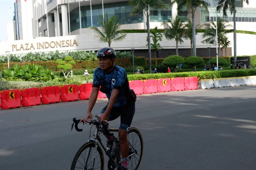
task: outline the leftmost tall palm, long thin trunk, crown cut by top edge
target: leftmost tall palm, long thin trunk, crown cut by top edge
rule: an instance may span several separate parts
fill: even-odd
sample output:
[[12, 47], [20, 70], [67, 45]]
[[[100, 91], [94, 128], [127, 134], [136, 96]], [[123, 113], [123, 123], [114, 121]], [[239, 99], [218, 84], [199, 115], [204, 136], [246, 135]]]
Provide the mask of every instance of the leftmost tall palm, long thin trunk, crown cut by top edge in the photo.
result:
[[[134, 5], [134, 10], [131, 12], [131, 15], [137, 14], [140, 11], [144, 11], [144, 14], [147, 18], [147, 32], [148, 32], [148, 44], [150, 43], [150, 26], [149, 26], [149, 8], [166, 8], [163, 0], [130, 0], [130, 5]], [[151, 73], [151, 46], [148, 45], [148, 59], [149, 59], [149, 71]]]

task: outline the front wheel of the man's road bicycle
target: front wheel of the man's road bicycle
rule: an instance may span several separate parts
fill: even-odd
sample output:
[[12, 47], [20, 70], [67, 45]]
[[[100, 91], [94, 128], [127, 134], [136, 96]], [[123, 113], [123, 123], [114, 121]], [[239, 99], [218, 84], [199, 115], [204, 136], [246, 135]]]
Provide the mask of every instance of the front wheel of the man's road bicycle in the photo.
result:
[[[94, 151], [95, 142], [90, 141], [83, 144], [76, 152], [70, 170], [103, 170], [104, 156], [99, 144], [97, 146], [96, 154]], [[93, 159], [95, 159], [94, 164]]]

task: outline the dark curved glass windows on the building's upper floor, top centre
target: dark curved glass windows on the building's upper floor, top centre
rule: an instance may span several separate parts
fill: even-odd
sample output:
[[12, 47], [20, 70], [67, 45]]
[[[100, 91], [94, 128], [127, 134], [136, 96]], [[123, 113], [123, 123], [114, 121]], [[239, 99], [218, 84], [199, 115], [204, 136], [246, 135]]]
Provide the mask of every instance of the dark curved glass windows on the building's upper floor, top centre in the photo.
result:
[[[168, 19], [172, 19], [172, 8], [168, 4], [169, 0], [166, 0], [166, 9], [150, 9], [150, 22], [166, 22]], [[91, 26], [91, 11], [90, 6], [81, 6], [81, 28], [88, 28]], [[134, 6], [130, 6], [128, 1], [117, 3], [104, 4], [104, 13], [108, 13], [108, 17], [117, 15], [121, 20], [121, 24], [133, 24], [143, 23], [143, 11], [139, 14], [131, 16], [131, 11]], [[186, 12], [187, 13], [187, 12]], [[100, 26], [99, 20], [102, 15], [102, 4], [92, 6], [92, 18], [93, 26]], [[187, 18], [187, 14], [186, 14]], [[79, 8], [75, 8], [70, 11], [70, 30], [75, 31], [80, 28], [79, 23]]]

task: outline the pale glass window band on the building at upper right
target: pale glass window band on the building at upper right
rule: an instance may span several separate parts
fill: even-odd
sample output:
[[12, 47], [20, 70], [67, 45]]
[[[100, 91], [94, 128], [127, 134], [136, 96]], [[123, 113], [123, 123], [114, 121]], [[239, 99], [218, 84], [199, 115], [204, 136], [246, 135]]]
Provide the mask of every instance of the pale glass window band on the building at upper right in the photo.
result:
[[[201, 23], [210, 22], [210, 21], [216, 21], [216, 14], [215, 14], [214, 7], [209, 7], [208, 10], [206, 10], [204, 7], [201, 7]], [[223, 12], [220, 11], [220, 13], [217, 14], [218, 18], [221, 18], [222, 20], [233, 22], [233, 14], [230, 13], [230, 11], [227, 11], [227, 17], [223, 17]], [[236, 21], [237, 22], [256, 22], [256, 8], [236, 8]]]

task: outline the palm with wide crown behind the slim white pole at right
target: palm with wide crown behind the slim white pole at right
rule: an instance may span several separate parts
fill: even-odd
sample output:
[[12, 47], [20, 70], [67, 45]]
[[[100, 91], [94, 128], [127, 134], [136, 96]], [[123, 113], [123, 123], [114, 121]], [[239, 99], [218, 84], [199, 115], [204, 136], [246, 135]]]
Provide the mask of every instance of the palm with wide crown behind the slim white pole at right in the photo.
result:
[[[227, 24], [228, 22], [218, 18], [217, 19], [217, 39], [218, 39], [218, 54], [220, 54], [221, 51], [221, 39], [227, 34], [232, 32], [233, 30], [227, 30], [227, 27], [230, 27], [230, 24]], [[213, 21], [210, 23], [205, 23], [202, 26], [206, 27], [206, 31], [202, 35], [203, 38], [208, 37], [207, 39], [203, 40], [203, 43], [209, 43], [216, 45], [216, 25]]]

